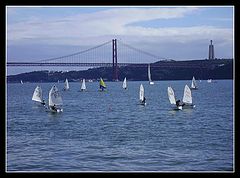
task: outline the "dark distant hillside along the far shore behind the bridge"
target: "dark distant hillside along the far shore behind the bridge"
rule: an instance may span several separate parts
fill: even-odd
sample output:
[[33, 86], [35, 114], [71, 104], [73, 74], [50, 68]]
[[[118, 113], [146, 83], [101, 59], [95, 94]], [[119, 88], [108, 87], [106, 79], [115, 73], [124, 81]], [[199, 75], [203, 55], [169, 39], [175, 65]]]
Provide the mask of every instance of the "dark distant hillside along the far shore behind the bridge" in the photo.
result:
[[[159, 61], [155, 64], [170, 65], [168, 68], [152, 67], [152, 80], [189, 80], [192, 76], [196, 79], [233, 79], [233, 60], [194, 60], [194, 61]], [[189, 65], [190, 67], [177, 68], [176, 65]], [[197, 66], [206, 65], [208, 68], [199, 69]], [[173, 67], [171, 67], [173, 66]], [[196, 67], [194, 67], [196, 66]], [[112, 67], [99, 67], [84, 71], [34, 71], [18, 75], [7, 76], [7, 82], [56, 82], [79, 81], [83, 78], [97, 80], [100, 77], [112, 81]], [[120, 67], [119, 80], [127, 77], [128, 80], [148, 80], [147, 67]]]

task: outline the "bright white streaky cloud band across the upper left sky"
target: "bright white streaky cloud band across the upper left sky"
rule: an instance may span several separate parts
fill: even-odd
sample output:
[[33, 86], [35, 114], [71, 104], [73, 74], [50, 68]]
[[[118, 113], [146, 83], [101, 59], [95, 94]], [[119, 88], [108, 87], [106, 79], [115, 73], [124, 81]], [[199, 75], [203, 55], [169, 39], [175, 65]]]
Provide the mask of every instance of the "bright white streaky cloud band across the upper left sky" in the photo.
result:
[[[28, 17], [8, 24], [8, 40], [17, 43], [47, 39], [49, 43], [76, 44], [78, 38], [109, 35], [155, 35], [161, 29], [140, 28], [129, 24], [153, 19], [181, 18], [196, 8], [113, 8], [90, 14], [75, 14], [58, 19]], [[56, 39], [59, 39], [56, 41]], [[79, 42], [77, 42], [79, 43]], [[80, 42], [81, 43], [81, 42]], [[84, 42], [85, 43], [85, 42]]]

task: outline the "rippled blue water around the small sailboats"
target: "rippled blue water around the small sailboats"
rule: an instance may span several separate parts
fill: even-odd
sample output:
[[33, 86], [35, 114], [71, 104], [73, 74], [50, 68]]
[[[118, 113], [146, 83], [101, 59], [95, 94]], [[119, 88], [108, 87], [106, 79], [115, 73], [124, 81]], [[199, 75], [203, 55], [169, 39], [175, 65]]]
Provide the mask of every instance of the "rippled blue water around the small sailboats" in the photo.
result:
[[[144, 85], [147, 105], [139, 102]], [[61, 91], [64, 112], [36, 105], [53, 83], [7, 84], [7, 171], [233, 171], [233, 81], [198, 81], [194, 109], [171, 109], [167, 87], [182, 99], [191, 81], [79, 82]], [[56, 83], [59, 89], [63, 83]]]

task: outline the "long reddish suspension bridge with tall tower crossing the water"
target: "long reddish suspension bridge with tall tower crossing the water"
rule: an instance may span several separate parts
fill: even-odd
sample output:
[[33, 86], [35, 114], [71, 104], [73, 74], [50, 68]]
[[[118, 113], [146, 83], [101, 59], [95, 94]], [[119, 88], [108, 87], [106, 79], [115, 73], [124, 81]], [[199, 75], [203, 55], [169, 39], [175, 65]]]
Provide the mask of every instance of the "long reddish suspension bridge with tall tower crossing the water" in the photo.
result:
[[[167, 58], [143, 51], [121, 40], [117, 42], [117, 39], [73, 54], [42, 59], [36, 62], [7, 62], [7, 67], [112, 67], [113, 80], [118, 80], [119, 67], [147, 67], [149, 64], [151, 67], [158, 68], [209, 68], [209, 63], [206, 60], [201, 60], [198, 65], [187, 61], [169, 61]], [[211, 64], [214, 65], [212, 62]]]

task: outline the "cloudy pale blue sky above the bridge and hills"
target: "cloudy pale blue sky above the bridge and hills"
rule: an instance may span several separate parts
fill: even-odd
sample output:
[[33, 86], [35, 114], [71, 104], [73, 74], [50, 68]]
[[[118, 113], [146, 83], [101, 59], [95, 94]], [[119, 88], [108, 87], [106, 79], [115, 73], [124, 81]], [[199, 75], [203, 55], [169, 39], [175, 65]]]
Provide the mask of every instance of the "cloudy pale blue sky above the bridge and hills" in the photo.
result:
[[[216, 58], [232, 58], [233, 14], [232, 6], [7, 6], [6, 61], [36, 62], [112, 39], [176, 61], [208, 58], [213, 40]], [[32, 70], [42, 69], [8, 67], [7, 75]]]

